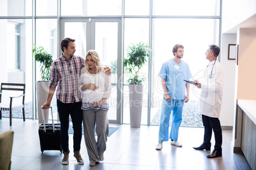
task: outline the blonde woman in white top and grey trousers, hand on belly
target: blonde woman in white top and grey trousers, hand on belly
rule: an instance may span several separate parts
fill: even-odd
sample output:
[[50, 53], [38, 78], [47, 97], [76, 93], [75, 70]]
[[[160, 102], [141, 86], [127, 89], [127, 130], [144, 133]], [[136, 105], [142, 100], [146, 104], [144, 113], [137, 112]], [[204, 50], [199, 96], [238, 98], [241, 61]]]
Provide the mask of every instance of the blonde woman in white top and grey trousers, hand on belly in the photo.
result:
[[[85, 58], [85, 67], [80, 75], [82, 92], [83, 131], [90, 166], [104, 160], [108, 137], [108, 102], [111, 94], [110, 76], [101, 67], [99, 55], [89, 50]], [[97, 134], [97, 141], [95, 137]]]

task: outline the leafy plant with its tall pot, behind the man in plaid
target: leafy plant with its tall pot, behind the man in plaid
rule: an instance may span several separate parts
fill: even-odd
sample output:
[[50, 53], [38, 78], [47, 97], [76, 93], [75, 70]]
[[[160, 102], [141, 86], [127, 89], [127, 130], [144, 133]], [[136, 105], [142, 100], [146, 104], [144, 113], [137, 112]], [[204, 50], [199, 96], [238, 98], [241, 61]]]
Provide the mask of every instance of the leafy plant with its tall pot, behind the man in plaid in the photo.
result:
[[[50, 81], [50, 67], [53, 62], [53, 56], [47, 53], [42, 47], [38, 46], [32, 48], [32, 53], [36, 62], [40, 63], [40, 75], [41, 81], [36, 82], [36, 96], [37, 96], [37, 110], [38, 110], [38, 121], [43, 122], [41, 106], [45, 103], [48, 96], [48, 86]], [[48, 110], [45, 110], [45, 122], [48, 122]]]

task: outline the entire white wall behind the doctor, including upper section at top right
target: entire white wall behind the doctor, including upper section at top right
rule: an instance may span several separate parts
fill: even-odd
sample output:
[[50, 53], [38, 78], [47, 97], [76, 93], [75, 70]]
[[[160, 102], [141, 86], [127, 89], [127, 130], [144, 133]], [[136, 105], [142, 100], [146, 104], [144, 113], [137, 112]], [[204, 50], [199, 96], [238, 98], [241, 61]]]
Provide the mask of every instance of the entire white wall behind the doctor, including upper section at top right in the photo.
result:
[[[232, 126], [234, 108], [236, 106], [236, 74], [238, 73], [235, 60], [227, 60], [228, 44], [237, 44], [237, 30], [239, 27], [250, 25], [255, 27], [256, 1], [255, 0], [225, 0], [222, 1], [222, 46], [221, 63], [225, 70], [224, 96], [220, 122], [222, 126]], [[250, 20], [247, 20], [250, 18]], [[247, 21], [246, 21], [247, 20]], [[246, 24], [241, 25], [242, 22]], [[253, 23], [250, 23], [253, 22]]]

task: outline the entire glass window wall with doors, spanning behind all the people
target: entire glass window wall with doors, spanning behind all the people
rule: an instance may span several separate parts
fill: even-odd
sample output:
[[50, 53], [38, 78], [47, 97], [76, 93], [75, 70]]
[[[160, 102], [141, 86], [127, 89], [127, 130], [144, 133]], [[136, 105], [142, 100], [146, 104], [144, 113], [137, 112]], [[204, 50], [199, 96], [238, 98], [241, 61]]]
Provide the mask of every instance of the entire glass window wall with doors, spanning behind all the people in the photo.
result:
[[[0, 0], [0, 36], [3, 39], [0, 42], [3, 61], [0, 62], [0, 82], [25, 82], [26, 98], [29, 96], [26, 101], [32, 102], [32, 96], [36, 96], [35, 82], [39, 81], [39, 67], [32, 58], [33, 44], [43, 46], [55, 59], [61, 53], [62, 35], [70, 36], [76, 39], [76, 55], [84, 57], [88, 49], [94, 48], [103, 57], [104, 64], [118, 69], [113, 77], [118, 75], [123, 79], [114, 80], [113, 95], [117, 96], [117, 105], [113, 110], [117, 110], [117, 115], [110, 115], [110, 118], [122, 117], [117, 122], [129, 124], [126, 81], [129, 74], [122, 72], [122, 57], [130, 44], [145, 42], [151, 46], [152, 54], [141, 69], [146, 77], [141, 124], [158, 125], [162, 100], [158, 73], [162, 63], [173, 58], [174, 44], [183, 44], [183, 60], [190, 66], [192, 75], [198, 75], [208, 62], [204, 56], [207, 46], [220, 42], [220, 3], [220, 0]], [[61, 25], [64, 20], [68, 22]], [[118, 35], [115, 34], [117, 23]], [[111, 54], [112, 51], [115, 53]], [[190, 101], [183, 110], [186, 125], [181, 126], [197, 126], [194, 122], [201, 121], [196, 93], [196, 89], [190, 89]], [[27, 110], [31, 115], [36, 111], [32, 106]], [[192, 121], [188, 122], [189, 119]]]

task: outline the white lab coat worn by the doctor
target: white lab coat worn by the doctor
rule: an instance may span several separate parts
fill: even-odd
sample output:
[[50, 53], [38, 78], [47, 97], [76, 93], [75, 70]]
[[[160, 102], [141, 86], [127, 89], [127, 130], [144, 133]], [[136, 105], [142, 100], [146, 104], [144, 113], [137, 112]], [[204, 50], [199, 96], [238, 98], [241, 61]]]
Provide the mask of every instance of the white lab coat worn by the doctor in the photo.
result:
[[[220, 116], [224, 86], [224, 68], [216, 60], [208, 64], [204, 69], [204, 77], [201, 82], [200, 112], [209, 117]], [[212, 69], [212, 73], [211, 73]]]

